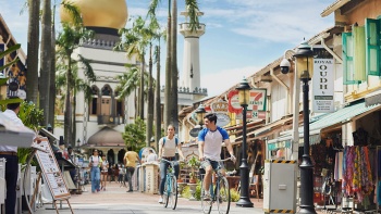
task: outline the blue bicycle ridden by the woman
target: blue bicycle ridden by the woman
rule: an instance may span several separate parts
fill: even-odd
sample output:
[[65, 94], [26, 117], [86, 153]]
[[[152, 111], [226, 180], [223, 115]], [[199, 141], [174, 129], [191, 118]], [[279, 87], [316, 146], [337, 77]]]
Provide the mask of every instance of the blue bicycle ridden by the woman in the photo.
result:
[[163, 205], [164, 207], [168, 207], [170, 204], [170, 207], [175, 210], [177, 205], [177, 180], [176, 176], [174, 175], [174, 163], [177, 161], [168, 161], [165, 159], [161, 160], [170, 164], [165, 175]]

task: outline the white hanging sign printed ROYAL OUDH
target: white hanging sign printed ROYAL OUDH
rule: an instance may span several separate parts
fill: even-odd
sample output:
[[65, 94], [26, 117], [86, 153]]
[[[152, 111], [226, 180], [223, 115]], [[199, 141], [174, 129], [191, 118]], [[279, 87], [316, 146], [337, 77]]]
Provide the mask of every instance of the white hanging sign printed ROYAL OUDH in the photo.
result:
[[312, 76], [312, 110], [316, 113], [334, 112], [334, 74], [332, 59], [315, 59]]

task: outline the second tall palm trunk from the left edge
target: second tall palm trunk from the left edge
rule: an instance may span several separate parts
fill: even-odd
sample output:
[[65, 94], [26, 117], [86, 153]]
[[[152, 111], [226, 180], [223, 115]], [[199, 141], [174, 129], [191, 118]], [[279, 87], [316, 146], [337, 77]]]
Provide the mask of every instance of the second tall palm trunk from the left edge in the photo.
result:
[[[40, 77], [38, 85], [42, 88], [50, 88], [51, 80], [51, 4], [50, 0], [42, 1], [42, 25], [41, 25], [41, 51], [40, 51]], [[44, 124], [49, 124], [50, 111], [50, 90], [39, 90], [39, 106], [44, 110]], [[54, 108], [54, 106], [51, 106]]]

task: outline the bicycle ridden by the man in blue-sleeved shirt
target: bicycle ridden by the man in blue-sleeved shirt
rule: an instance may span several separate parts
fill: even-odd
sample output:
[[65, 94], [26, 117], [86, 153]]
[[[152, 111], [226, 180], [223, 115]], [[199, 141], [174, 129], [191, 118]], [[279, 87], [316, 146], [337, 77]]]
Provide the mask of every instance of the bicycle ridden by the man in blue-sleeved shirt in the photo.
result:
[[217, 203], [217, 207], [219, 211], [219, 214], [228, 214], [230, 210], [230, 202], [231, 202], [231, 193], [230, 193], [230, 188], [229, 188], [229, 182], [226, 177], [222, 174], [221, 168], [222, 168], [222, 162], [232, 160], [231, 158], [224, 159], [221, 161], [218, 161], [218, 167], [214, 169], [217, 174], [217, 180], [216, 185], [213, 182], [210, 184], [210, 196], [211, 200], [206, 201], [204, 199], [205, 196], [205, 188], [204, 188], [204, 176], [201, 175], [201, 207], [202, 212], [205, 214], [209, 214], [211, 212], [211, 207], [213, 203]]

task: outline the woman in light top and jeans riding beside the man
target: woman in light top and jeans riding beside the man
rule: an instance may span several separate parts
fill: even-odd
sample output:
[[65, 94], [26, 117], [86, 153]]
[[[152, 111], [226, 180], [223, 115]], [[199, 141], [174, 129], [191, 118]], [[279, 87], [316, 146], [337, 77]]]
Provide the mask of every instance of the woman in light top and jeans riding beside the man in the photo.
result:
[[[179, 152], [179, 155], [185, 160], [184, 154], [181, 150], [181, 143], [179, 142], [179, 138], [174, 137], [174, 131], [175, 127], [173, 125], [169, 125], [167, 128], [167, 136], [162, 137], [159, 140], [159, 160], [165, 159], [167, 161], [175, 161], [175, 153], [176, 150]], [[164, 161], [160, 161], [160, 187], [159, 187], [159, 192], [160, 192], [160, 198], [159, 198], [159, 203], [163, 202], [162, 196], [164, 193], [164, 185], [165, 185], [165, 175], [167, 175], [167, 169], [169, 167], [169, 163]], [[174, 175], [176, 178], [179, 177], [179, 163], [175, 162], [174, 164]]]

